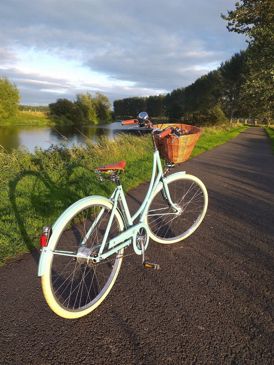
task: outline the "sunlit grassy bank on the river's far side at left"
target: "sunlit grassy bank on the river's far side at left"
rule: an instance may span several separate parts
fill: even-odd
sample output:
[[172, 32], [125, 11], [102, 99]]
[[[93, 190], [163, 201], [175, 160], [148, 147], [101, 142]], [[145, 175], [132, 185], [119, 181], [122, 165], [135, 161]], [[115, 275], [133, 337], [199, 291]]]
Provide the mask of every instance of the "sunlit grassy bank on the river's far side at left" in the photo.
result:
[[[108, 122], [102, 122], [108, 123]], [[34, 125], [34, 126], [43, 126], [43, 125], [56, 125], [56, 124], [74, 124], [71, 120], [65, 118], [64, 116], [60, 117], [57, 115], [51, 115], [48, 112], [24, 112], [19, 111], [18, 115], [0, 120], [0, 126], [6, 125]], [[85, 122], [81, 122], [81, 124], [93, 124], [92, 121], [86, 120]]]

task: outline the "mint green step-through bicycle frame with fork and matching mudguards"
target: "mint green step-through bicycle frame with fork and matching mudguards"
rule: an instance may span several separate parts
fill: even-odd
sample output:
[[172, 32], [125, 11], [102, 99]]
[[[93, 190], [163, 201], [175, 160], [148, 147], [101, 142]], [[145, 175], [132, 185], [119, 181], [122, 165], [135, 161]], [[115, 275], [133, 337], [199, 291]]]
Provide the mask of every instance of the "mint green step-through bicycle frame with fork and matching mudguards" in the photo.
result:
[[[154, 135], [152, 134], [152, 139], [153, 138], [154, 138]], [[157, 167], [158, 172], [157, 172], [157, 176], [155, 178], [156, 167]], [[101, 243], [100, 247], [98, 247], [99, 248], [98, 257], [92, 257], [92, 259], [97, 262], [99, 262], [100, 260], [104, 260], [107, 257], [109, 257], [110, 255], [112, 255], [113, 253], [117, 253], [123, 247], [129, 246], [131, 243], [133, 243], [134, 251], [137, 254], [141, 254], [140, 250], [139, 251], [136, 250], [136, 238], [137, 238], [137, 234], [141, 230], [141, 228], [145, 229], [145, 231], [147, 233], [147, 241], [145, 243], [145, 249], [146, 249], [146, 247], [148, 245], [148, 240], [149, 240], [149, 228], [144, 223], [144, 218], [145, 218], [146, 212], [148, 211], [149, 205], [153, 199], [156, 189], [159, 188], [160, 186], [162, 186], [161, 192], [163, 195], [163, 199], [167, 200], [168, 203], [174, 208], [174, 212], [172, 212], [170, 214], [176, 214], [177, 212], [179, 212], [179, 210], [171, 201], [171, 197], [170, 197], [170, 194], [168, 191], [168, 182], [171, 179], [173, 180], [175, 176], [182, 176], [184, 174], [185, 174], [185, 172], [178, 172], [175, 174], [171, 174], [170, 176], [167, 176], [167, 177], [165, 177], [163, 175], [163, 168], [161, 166], [159, 151], [155, 147], [155, 143], [154, 143], [151, 181], [149, 183], [149, 187], [148, 187], [148, 191], [146, 193], [145, 199], [144, 199], [143, 203], [140, 205], [140, 207], [138, 208], [137, 212], [133, 216], [130, 215], [128, 204], [126, 203], [125, 195], [123, 193], [123, 189], [122, 189], [121, 185], [118, 185], [114, 189], [114, 192], [111, 195], [110, 199], [107, 199], [106, 197], [103, 197], [103, 196], [89, 196], [89, 197], [85, 197], [79, 201], [76, 201], [69, 208], [67, 208], [61, 214], [60, 218], [53, 224], [52, 235], [49, 239], [49, 243], [48, 243], [47, 247], [43, 247], [41, 255], [40, 255], [39, 264], [38, 264], [38, 276], [42, 276], [45, 273], [46, 262], [49, 259], [49, 257], [52, 255], [65, 255], [65, 256], [78, 257], [77, 254], [72, 251], [57, 251], [57, 250], [52, 251], [49, 249], [50, 243], [52, 242], [52, 240], [55, 240], [55, 242], [56, 242], [58, 240], [58, 238], [60, 237], [60, 235], [62, 233], [61, 228], [63, 227], [63, 222], [71, 214], [71, 210], [77, 211], [77, 209], [79, 209], [79, 211], [80, 211], [81, 207], [83, 207], [87, 202], [92, 203], [93, 200], [97, 200], [97, 199], [109, 201], [113, 205], [113, 208], [111, 211], [109, 224], [107, 225], [107, 228], [106, 228], [106, 233], [104, 234], [103, 242]], [[122, 210], [120, 210], [118, 208], [118, 202], [119, 202], [120, 207], [122, 207]], [[114, 218], [115, 211], [118, 211], [118, 213], [120, 214], [120, 216], [123, 220], [124, 226], [125, 226], [125, 230], [121, 234], [116, 236], [114, 239], [111, 239], [109, 242], [106, 242], [108, 234], [109, 234], [110, 226], [111, 226], [112, 220]], [[102, 209], [98, 213], [98, 216], [97, 216], [95, 222], [92, 224], [90, 230], [87, 232], [84, 239], [80, 243], [79, 248], [85, 244], [88, 237], [91, 235], [93, 228], [95, 227], [96, 223], [100, 219], [100, 216], [102, 216], [103, 212], [104, 212], [104, 210]], [[140, 215], [140, 219], [138, 220], [138, 223], [133, 224], [134, 220], [139, 215]], [[156, 214], [150, 214], [150, 215], [156, 215]], [[106, 244], [108, 245], [108, 251], [105, 252], [104, 254], [102, 254]]]

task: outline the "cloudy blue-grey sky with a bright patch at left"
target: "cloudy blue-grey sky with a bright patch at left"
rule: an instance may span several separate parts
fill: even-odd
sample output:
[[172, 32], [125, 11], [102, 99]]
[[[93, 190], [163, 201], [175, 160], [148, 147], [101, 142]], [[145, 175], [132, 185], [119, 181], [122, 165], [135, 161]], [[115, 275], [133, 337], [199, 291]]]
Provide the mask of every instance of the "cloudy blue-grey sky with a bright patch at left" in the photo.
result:
[[246, 49], [236, 0], [1, 0], [1, 76], [22, 105], [96, 92], [110, 102], [185, 87]]

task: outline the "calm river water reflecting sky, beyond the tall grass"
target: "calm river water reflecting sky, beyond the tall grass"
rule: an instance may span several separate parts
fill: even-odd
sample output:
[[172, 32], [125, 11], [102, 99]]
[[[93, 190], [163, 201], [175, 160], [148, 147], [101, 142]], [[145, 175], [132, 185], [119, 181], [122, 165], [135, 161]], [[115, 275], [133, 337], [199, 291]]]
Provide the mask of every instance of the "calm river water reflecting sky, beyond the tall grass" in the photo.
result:
[[72, 143], [85, 145], [87, 138], [96, 142], [96, 138], [100, 135], [113, 138], [123, 132], [134, 135], [147, 133], [144, 128], [136, 127], [129, 130], [129, 127], [122, 126], [121, 122], [76, 126], [0, 126], [0, 145], [7, 151], [24, 145], [30, 152], [34, 152], [35, 146], [47, 149], [52, 144], [60, 145], [65, 139], [67, 139], [67, 144], [70, 147]]

